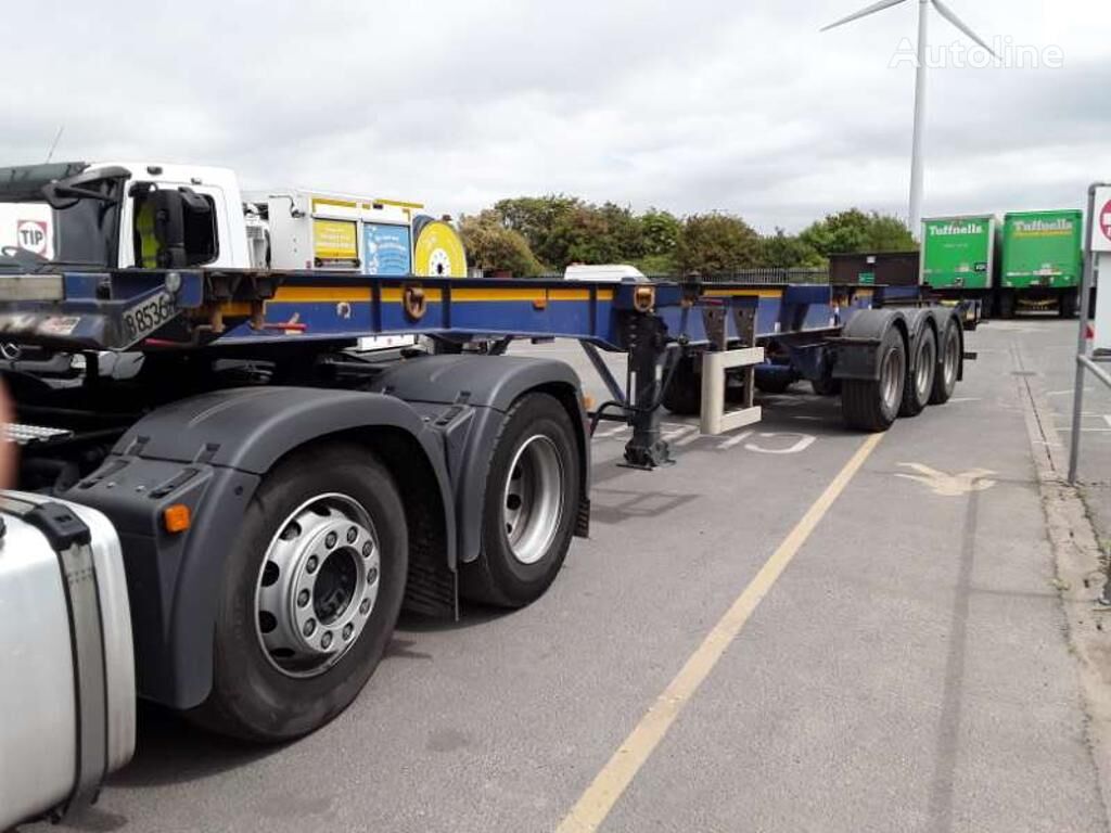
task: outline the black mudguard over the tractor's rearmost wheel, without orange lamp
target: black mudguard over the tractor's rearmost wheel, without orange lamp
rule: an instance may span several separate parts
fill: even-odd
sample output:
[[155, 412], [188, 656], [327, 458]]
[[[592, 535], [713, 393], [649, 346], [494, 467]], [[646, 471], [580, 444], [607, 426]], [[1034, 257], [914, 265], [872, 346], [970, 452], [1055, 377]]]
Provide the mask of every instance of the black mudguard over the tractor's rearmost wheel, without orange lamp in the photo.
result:
[[520, 355], [453, 354], [400, 362], [374, 380], [372, 390], [414, 407], [437, 405], [446, 435], [448, 471], [456, 494], [460, 561], [479, 555], [487, 468], [506, 411], [521, 394], [551, 393], [568, 410], [575, 431], [581, 488], [575, 534], [584, 536], [590, 518], [590, 436], [581, 382], [565, 362]]

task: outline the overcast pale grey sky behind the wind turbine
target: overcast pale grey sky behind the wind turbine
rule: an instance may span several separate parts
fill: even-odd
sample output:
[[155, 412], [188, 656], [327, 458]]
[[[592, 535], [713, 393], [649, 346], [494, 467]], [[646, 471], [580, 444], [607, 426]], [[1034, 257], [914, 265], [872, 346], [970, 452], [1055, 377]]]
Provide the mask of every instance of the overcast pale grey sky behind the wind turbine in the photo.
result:
[[[250, 188], [421, 200], [564, 192], [797, 230], [905, 217], [917, 2], [6, 3], [0, 164], [222, 164]], [[930, 71], [927, 214], [1077, 205], [1111, 179], [1111, 3], [948, 0], [1059, 69]], [[160, 8], [161, 7], [161, 8]], [[931, 42], [967, 42], [937, 14]], [[1050, 56], [1052, 58], [1052, 56]]]

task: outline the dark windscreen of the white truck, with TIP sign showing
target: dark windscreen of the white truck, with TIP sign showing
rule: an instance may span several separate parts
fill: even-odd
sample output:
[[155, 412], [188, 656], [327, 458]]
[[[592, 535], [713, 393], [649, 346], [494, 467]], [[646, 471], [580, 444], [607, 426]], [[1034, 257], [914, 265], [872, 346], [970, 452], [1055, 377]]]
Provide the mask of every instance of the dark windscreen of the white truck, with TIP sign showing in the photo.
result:
[[4, 193], [0, 188], [0, 269], [44, 271], [51, 267], [114, 268], [119, 248], [123, 179], [84, 180], [42, 193]]

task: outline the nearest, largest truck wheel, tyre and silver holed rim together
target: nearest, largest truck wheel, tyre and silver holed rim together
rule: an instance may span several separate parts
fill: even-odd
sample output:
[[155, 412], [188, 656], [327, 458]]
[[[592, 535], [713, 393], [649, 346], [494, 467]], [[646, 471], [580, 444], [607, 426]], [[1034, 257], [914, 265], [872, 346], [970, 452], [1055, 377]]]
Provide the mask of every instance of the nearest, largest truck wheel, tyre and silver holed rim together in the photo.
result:
[[260, 742], [328, 723], [386, 651], [407, 562], [404, 508], [369, 451], [316, 446], [280, 463], [229, 548], [212, 691], [189, 716]]

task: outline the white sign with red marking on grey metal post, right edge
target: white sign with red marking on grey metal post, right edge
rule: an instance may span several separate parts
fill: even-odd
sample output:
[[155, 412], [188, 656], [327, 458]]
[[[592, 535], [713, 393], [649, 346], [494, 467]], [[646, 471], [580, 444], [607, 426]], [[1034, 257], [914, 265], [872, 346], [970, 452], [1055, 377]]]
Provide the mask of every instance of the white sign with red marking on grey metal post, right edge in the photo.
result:
[[[1080, 422], [1084, 373], [1111, 388], [1111, 183], [1088, 189], [1088, 231], [1084, 234], [1084, 280], [1080, 288], [1080, 332], [1077, 335], [1077, 381], [1072, 394], [1072, 436], [1069, 444], [1069, 482], [1077, 482], [1080, 463]], [[1103, 268], [1103, 291], [1098, 293], [1094, 321], [1090, 308], [1094, 275]], [[1100, 365], [1103, 367], [1100, 367]]]

